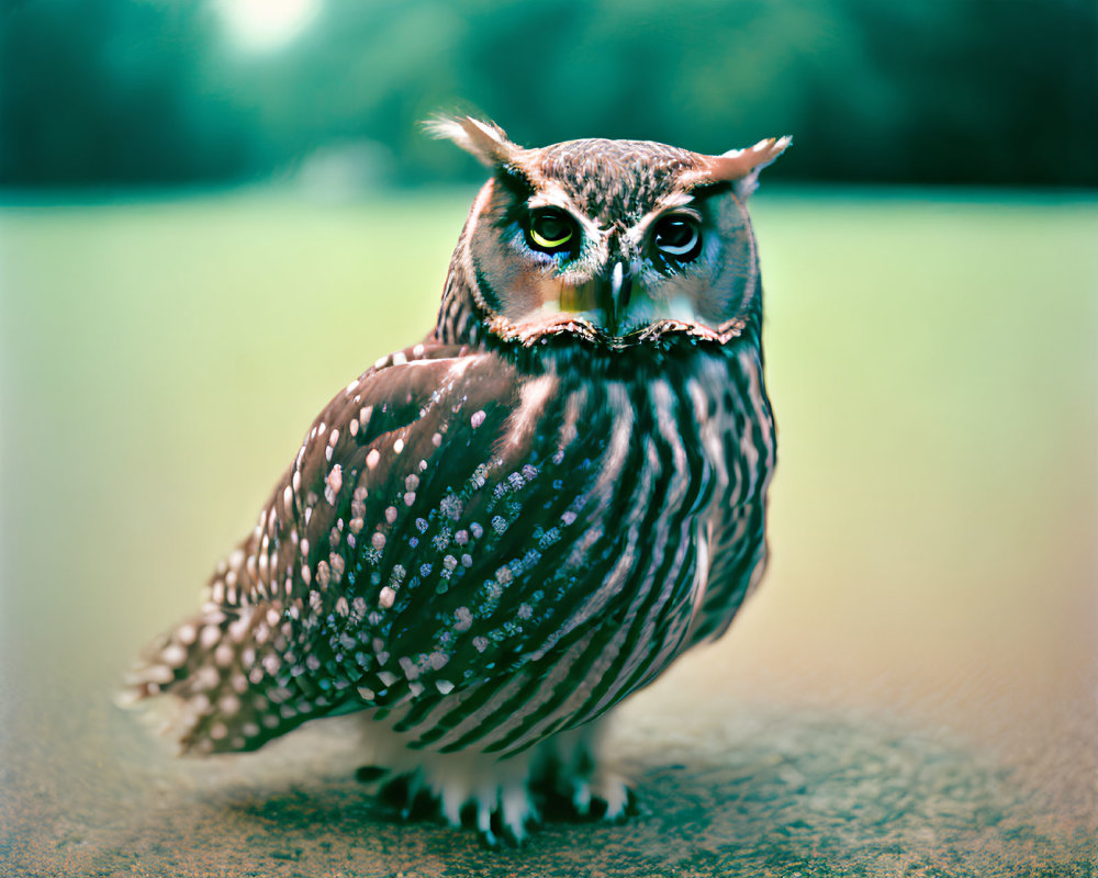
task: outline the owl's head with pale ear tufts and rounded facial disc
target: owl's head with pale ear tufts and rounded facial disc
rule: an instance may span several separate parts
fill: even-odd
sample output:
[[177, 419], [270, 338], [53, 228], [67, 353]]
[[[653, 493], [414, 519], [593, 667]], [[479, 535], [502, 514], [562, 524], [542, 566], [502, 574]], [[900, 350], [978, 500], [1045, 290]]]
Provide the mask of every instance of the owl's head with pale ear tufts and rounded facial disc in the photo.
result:
[[646, 140], [526, 149], [468, 116], [428, 128], [492, 171], [451, 275], [496, 337], [571, 335], [615, 350], [670, 336], [726, 344], [758, 313], [744, 204], [789, 137], [707, 156]]

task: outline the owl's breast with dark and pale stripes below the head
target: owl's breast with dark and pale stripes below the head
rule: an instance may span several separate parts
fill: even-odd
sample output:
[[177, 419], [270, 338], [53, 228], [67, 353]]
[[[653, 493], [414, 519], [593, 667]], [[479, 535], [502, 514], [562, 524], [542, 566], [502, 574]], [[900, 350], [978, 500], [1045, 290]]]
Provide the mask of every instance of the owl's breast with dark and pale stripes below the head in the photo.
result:
[[[516, 381], [481, 471], [496, 513], [489, 576], [384, 634], [395, 654], [430, 644], [446, 657], [417, 677], [415, 700], [388, 693], [412, 746], [520, 751], [598, 717], [727, 624], [744, 567], [761, 563], [761, 515], [744, 510], [761, 508], [773, 461], [755, 365], [692, 351], [600, 379], [550, 361]], [[451, 664], [478, 660], [484, 678], [453, 691]]]

